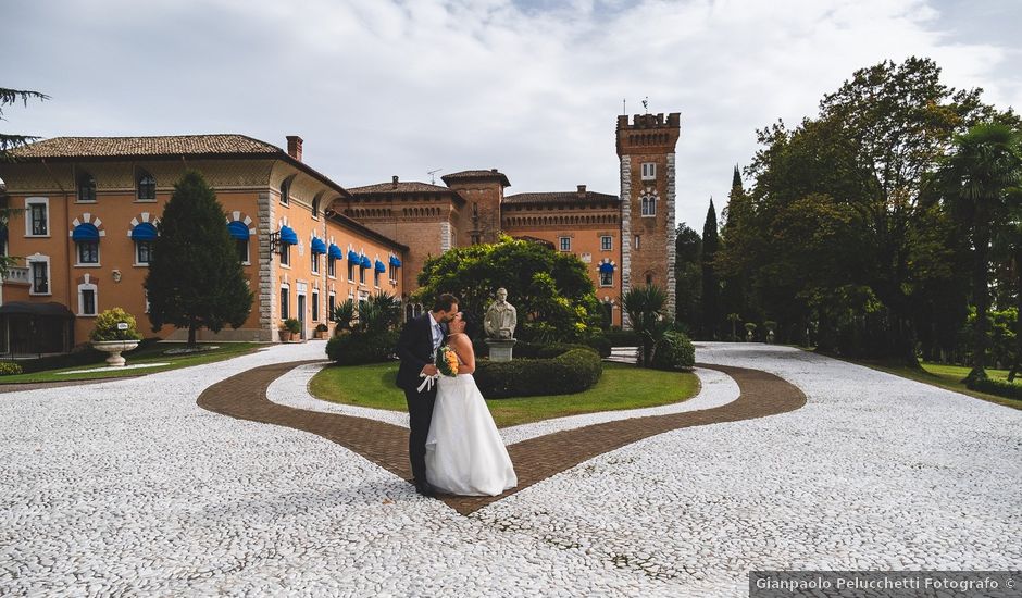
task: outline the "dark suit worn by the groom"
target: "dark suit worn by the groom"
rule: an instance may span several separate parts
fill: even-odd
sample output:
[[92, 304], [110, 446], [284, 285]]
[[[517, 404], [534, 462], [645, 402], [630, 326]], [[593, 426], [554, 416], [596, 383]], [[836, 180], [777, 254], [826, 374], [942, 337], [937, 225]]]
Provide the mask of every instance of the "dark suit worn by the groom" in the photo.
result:
[[[443, 331], [444, 324], [440, 324]], [[443, 342], [443, 334], [440, 341]], [[433, 322], [426, 313], [408, 322], [398, 339], [398, 388], [404, 390], [408, 401], [408, 458], [412, 462], [412, 475], [416, 483], [426, 481], [426, 437], [433, 421], [433, 404], [436, 402], [436, 384], [433, 389], [417, 390], [423, 378], [419, 377], [427, 363], [435, 363], [433, 350]]]

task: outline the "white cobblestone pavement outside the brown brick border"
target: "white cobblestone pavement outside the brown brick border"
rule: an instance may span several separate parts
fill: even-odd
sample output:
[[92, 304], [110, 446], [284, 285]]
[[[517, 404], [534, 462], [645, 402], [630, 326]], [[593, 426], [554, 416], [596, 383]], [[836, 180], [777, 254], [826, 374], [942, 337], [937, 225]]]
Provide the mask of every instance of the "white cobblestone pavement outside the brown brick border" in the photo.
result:
[[196, 406], [322, 351], [0, 395], [0, 595], [744, 596], [752, 569], [1022, 565], [1020, 411], [700, 345], [808, 404], [655, 436], [464, 518], [319, 436]]

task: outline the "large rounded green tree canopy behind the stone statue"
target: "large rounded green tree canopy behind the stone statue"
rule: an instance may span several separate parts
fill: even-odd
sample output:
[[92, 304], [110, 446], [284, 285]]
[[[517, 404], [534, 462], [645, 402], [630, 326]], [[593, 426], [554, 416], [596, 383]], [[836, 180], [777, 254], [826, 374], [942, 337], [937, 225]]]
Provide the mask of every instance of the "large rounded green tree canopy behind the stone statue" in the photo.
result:
[[498, 288], [518, 310], [523, 340], [582, 340], [599, 328], [600, 308], [586, 264], [540, 244], [501, 237], [426, 260], [413, 298], [427, 308], [443, 292], [461, 301], [476, 331]]

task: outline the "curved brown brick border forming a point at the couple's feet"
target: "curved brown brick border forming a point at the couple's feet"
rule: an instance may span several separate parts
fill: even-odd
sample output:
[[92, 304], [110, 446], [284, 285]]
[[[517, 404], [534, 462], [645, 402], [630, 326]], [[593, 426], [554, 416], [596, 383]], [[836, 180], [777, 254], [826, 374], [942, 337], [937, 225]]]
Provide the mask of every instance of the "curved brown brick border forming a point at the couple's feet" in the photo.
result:
[[[266, 387], [274, 379], [299, 365], [317, 361], [264, 365], [242, 372], [210, 386], [199, 395], [197, 402], [214, 413], [317, 434], [409, 479], [408, 429], [375, 420], [295, 409], [266, 398]], [[440, 500], [468, 515], [583, 461], [643, 438], [682, 427], [775, 415], [806, 404], [806, 395], [798, 387], [773, 374], [705, 363], [699, 367], [733, 377], [738, 383], [738, 399], [713, 409], [606, 422], [510, 445], [508, 452], [518, 473], [518, 487], [496, 497], [444, 496]]]

